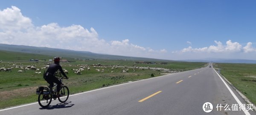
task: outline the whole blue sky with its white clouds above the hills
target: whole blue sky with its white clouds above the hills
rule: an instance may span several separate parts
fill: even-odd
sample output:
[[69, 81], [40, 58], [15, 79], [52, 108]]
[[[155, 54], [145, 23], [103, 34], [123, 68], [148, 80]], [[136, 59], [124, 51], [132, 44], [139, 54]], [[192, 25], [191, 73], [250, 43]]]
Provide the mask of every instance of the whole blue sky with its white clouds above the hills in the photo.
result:
[[255, 5], [255, 0], [8, 0], [0, 4], [0, 43], [169, 60], [254, 60]]

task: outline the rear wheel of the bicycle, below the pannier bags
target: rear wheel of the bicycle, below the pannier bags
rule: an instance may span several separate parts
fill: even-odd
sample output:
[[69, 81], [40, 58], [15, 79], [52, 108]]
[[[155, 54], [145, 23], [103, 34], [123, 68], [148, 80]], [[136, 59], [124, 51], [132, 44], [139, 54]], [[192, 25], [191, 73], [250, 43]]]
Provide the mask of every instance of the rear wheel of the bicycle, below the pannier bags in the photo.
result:
[[41, 107], [45, 108], [50, 105], [52, 102], [52, 94], [44, 94], [44, 91], [41, 91], [38, 95], [38, 103]]

